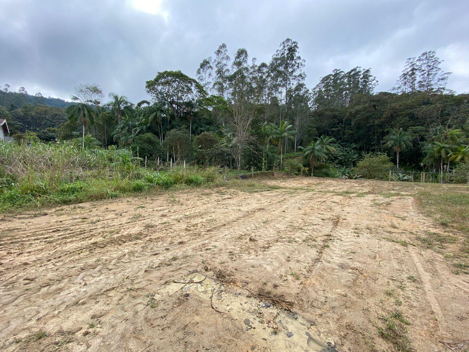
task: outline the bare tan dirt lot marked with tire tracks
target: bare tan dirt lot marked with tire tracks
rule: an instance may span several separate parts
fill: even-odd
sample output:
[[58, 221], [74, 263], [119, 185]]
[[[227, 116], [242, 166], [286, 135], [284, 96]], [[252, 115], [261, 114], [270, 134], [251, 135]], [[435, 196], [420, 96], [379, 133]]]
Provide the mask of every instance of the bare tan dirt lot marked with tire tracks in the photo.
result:
[[469, 338], [469, 275], [422, 241], [457, 234], [420, 212], [422, 186], [246, 182], [4, 217], [0, 350], [451, 351]]

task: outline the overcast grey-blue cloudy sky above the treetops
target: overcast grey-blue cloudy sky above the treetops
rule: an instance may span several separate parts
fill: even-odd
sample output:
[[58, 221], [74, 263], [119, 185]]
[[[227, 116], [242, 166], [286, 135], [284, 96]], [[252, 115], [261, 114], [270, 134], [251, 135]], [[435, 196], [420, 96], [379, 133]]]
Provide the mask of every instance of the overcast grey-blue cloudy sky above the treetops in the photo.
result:
[[0, 84], [68, 99], [80, 83], [146, 99], [145, 81], [181, 69], [195, 77], [225, 42], [268, 61], [299, 43], [306, 83], [335, 68], [370, 67], [377, 91], [427, 50], [469, 92], [467, 0], [0, 0]]

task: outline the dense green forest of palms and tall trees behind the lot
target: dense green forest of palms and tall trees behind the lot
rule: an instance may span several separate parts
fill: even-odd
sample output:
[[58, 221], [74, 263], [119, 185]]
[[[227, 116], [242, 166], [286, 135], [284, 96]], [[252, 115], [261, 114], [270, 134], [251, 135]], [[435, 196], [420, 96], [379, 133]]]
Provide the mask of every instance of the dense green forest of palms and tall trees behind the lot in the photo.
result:
[[392, 92], [376, 93], [377, 78], [362, 67], [334, 69], [307, 87], [291, 39], [260, 63], [221, 44], [195, 78], [161, 71], [149, 79], [150, 101], [116, 93], [105, 101], [97, 84], [82, 84], [67, 102], [6, 84], [0, 118], [17, 141], [81, 138], [83, 147], [130, 146], [152, 161], [311, 174], [386, 153], [397, 168], [443, 173], [469, 160], [469, 94], [446, 89], [441, 63], [434, 51], [409, 58]]

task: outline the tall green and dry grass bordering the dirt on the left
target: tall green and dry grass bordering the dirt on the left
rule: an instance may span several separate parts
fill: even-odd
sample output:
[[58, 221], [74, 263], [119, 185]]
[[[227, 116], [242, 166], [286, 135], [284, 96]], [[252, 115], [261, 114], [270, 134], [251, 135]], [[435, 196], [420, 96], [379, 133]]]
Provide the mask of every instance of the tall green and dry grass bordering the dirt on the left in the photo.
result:
[[0, 211], [116, 198], [176, 184], [219, 184], [218, 169], [143, 168], [128, 149], [82, 149], [57, 144], [0, 144]]

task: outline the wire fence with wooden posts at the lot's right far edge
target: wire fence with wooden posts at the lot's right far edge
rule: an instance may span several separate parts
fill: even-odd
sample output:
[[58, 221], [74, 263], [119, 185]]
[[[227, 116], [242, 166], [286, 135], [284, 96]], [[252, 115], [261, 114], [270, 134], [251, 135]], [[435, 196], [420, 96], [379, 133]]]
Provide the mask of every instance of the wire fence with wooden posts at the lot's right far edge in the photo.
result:
[[434, 184], [469, 184], [469, 173], [454, 172], [454, 168], [439, 171], [389, 170], [389, 181], [421, 182]]

